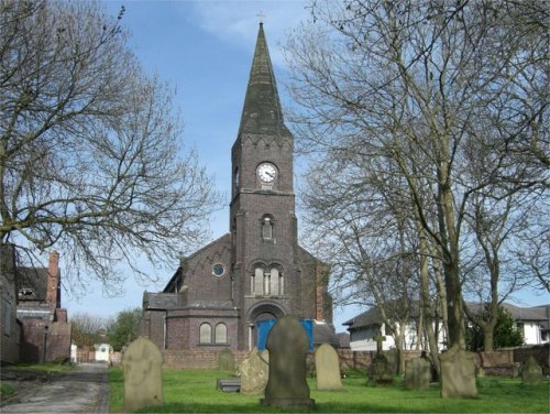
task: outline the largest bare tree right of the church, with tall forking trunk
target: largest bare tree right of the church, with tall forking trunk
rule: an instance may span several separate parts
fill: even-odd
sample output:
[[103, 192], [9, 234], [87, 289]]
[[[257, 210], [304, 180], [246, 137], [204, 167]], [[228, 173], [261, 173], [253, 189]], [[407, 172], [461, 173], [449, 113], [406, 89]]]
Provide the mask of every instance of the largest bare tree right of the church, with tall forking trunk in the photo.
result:
[[[534, 10], [547, 13], [535, 1], [319, 1], [315, 22], [287, 45], [299, 146], [323, 153], [327, 168], [327, 159], [363, 156], [363, 176], [393, 166], [404, 186], [381, 193], [342, 179], [342, 203], [363, 199], [365, 187], [373, 197], [400, 192], [442, 270], [450, 346], [465, 347], [461, 265], [471, 198], [496, 182], [507, 194], [547, 188], [548, 28]], [[469, 155], [477, 143], [486, 159], [480, 168]]]

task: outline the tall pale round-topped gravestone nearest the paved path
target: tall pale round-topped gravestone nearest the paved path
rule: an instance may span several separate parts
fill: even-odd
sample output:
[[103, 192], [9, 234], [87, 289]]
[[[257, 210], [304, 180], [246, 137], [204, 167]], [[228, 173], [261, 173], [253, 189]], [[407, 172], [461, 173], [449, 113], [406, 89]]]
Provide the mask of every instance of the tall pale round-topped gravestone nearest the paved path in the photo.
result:
[[124, 411], [163, 404], [163, 356], [155, 344], [140, 337], [122, 356]]

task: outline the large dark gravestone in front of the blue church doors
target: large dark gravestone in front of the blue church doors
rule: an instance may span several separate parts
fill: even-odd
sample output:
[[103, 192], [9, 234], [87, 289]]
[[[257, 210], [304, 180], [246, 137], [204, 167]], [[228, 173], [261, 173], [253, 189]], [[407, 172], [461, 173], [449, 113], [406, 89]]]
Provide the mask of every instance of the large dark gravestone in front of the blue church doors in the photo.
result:
[[278, 319], [267, 336], [270, 375], [262, 405], [312, 408], [306, 381], [309, 339], [295, 316]]

